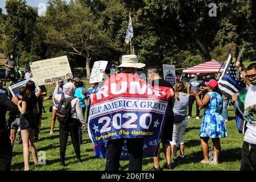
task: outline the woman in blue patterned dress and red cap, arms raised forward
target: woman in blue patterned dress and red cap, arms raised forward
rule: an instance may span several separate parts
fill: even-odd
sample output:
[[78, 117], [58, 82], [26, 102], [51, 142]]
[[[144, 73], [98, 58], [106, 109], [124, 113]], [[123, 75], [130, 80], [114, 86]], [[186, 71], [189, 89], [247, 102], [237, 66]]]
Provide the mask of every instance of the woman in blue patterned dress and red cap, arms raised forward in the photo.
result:
[[[221, 95], [217, 93], [218, 82], [216, 80], [205, 82], [205, 85], [207, 85], [208, 93], [205, 94], [203, 101], [200, 100], [200, 93], [192, 92], [192, 95], [196, 97], [199, 107], [205, 107], [200, 130], [200, 142], [204, 154], [204, 159], [201, 160], [201, 163], [218, 164], [218, 155], [221, 151], [220, 138], [228, 137], [224, 119], [220, 114], [223, 101]], [[209, 138], [212, 139], [214, 146], [214, 158], [212, 162], [209, 162], [208, 158]]]

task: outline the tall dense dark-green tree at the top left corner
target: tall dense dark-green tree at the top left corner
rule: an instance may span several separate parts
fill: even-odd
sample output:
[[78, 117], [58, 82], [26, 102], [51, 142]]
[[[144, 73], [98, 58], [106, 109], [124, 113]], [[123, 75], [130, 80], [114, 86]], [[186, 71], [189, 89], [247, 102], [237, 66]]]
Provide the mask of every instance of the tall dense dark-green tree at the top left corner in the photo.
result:
[[30, 51], [31, 32], [38, 15], [23, 0], [8, 0], [5, 8], [7, 15], [3, 23], [3, 49], [5, 55], [20, 56], [23, 51]]

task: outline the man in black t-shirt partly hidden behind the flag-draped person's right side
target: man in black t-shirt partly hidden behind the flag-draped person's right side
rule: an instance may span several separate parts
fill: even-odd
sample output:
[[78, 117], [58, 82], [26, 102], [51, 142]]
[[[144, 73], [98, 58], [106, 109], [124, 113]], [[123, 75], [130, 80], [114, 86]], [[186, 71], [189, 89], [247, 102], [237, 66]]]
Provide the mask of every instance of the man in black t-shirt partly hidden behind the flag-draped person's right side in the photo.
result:
[[[174, 89], [173, 86], [170, 84], [170, 82], [163, 80], [162, 77], [159, 76], [160, 69], [157, 66], [151, 67], [148, 69], [148, 78], [152, 81], [151, 84], [153, 86], [166, 86], [169, 88]], [[167, 160], [167, 169], [172, 170], [171, 167], [171, 153], [172, 153], [172, 148], [170, 142], [172, 141], [172, 130], [174, 127], [174, 111], [172, 111], [174, 107], [174, 92], [171, 93], [172, 98], [168, 102], [167, 106], [167, 115], [166, 115], [166, 121], [164, 121], [164, 126], [163, 126], [163, 134], [162, 134], [162, 144], [163, 144], [163, 152], [164, 155], [166, 155], [166, 160]], [[158, 152], [158, 156], [155, 156], [154, 159], [154, 166], [151, 168], [152, 171], [159, 171], [160, 170], [160, 165], [159, 165], [159, 157], [160, 156], [160, 151]]]

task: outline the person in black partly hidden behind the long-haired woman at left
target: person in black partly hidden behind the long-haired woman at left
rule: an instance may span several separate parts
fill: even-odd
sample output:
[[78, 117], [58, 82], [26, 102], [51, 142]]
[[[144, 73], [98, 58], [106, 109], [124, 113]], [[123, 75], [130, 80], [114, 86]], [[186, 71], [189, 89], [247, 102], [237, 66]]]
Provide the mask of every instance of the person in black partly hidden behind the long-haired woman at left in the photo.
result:
[[36, 116], [36, 129], [35, 129], [35, 137], [34, 142], [39, 142], [39, 133], [40, 133], [40, 127], [41, 127], [41, 118], [42, 118], [42, 111], [43, 111], [43, 97], [47, 95], [47, 89], [46, 86], [41, 85], [38, 86], [38, 94], [36, 94], [36, 97], [38, 97], [38, 107], [39, 107], [39, 114]]

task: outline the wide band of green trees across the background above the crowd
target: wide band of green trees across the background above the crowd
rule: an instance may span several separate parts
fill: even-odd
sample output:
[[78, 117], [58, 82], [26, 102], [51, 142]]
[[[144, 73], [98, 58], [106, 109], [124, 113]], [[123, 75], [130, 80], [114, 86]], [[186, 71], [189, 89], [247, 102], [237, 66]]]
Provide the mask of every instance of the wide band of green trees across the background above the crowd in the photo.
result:
[[243, 59], [256, 59], [256, 2], [166, 0], [49, 0], [46, 16], [24, 0], [7, 0], [0, 9], [0, 51], [19, 56], [23, 63], [68, 55], [71, 65], [86, 67], [95, 60], [119, 64], [130, 53], [125, 34], [131, 13], [134, 53], [153, 64], [191, 64], [222, 61], [245, 47]]

